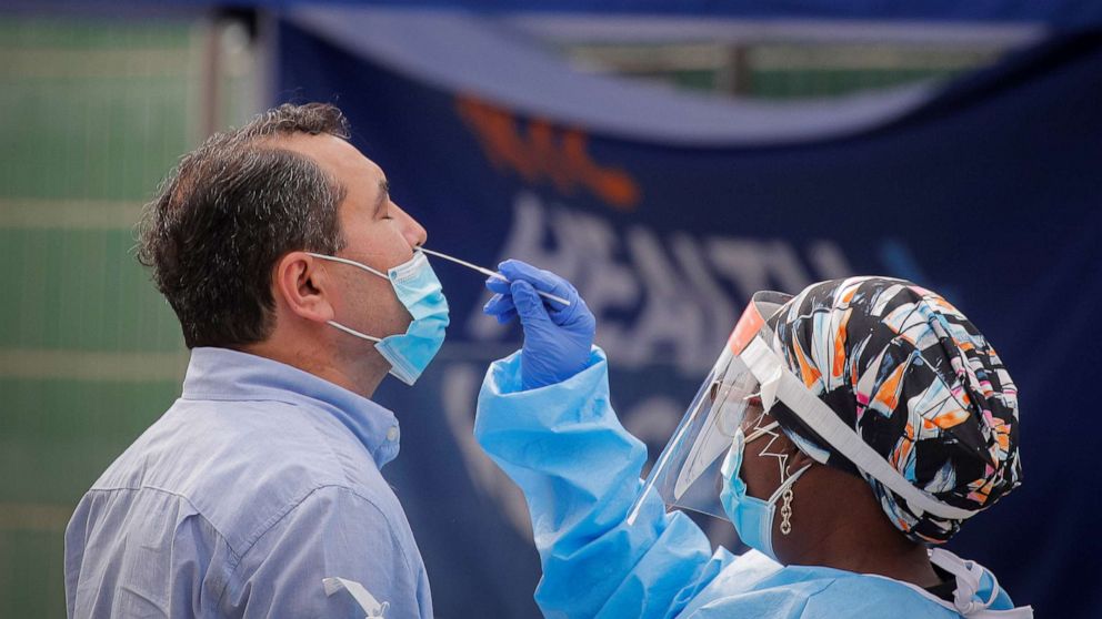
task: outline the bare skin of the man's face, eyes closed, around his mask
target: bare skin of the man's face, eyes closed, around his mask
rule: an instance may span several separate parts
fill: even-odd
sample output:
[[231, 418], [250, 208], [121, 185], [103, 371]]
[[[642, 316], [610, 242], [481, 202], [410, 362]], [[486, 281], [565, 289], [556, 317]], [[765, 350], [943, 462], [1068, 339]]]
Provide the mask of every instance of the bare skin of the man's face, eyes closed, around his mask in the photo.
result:
[[[345, 241], [341, 257], [387, 273], [412, 258], [413, 247], [425, 242], [428, 234], [421, 224], [391, 202], [382, 169], [352, 144], [333, 135], [294, 134], [280, 145], [310, 156], [347, 187], [340, 204]], [[323, 267], [342, 284], [340, 294], [330, 300], [337, 322], [375, 337], [405, 333], [412, 317], [390, 281], [349, 265], [328, 263]], [[364, 345], [347, 339], [350, 346]]]

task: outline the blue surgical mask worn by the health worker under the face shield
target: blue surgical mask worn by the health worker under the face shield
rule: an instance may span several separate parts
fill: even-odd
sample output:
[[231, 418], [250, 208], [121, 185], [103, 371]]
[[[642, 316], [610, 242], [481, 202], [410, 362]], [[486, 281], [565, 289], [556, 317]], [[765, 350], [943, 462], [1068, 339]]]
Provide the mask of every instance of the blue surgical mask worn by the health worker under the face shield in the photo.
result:
[[773, 518], [777, 515], [777, 501], [811, 465], [783, 480], [769, 500], [762, 500], [747, 494], [747, 483], [739, 476], [745, 448], [747, 435], [742, 428], [739, 428], [734, 430], [731, 449], [720, 469], [723, 475], [720, 503], [723, 504], [723, 511], [727, 513], [728, 518], [734, 524], [734, 529], [739, 531], [742, 542], [777, 561], [777, 555], [773, 552]]

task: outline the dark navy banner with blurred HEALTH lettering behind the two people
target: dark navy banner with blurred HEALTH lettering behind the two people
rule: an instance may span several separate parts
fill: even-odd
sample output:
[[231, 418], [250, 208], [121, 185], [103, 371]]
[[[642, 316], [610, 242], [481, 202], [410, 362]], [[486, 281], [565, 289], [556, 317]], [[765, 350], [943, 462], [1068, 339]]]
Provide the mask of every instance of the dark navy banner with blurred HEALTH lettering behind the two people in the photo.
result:
[[[652, 458], [754, 291], [888, 274], [942, 292], [1019, 384], [1025, 473], [951, 548], [1042, 616], [1096, 616], [1102, 37], [1018, 54], [855, 135], [694, 149], [527, 118], [291, 22], [279, 35], [278, 98], [339, 104], [428, 246], [489, 266], [525, 258], [578, 286], [617, 409]], [[520, 333], [480, 314], [482, 277], [434, 265], [452, 326], [415, 387], [378, 394], [403, 426], [384, 474], [440, 616], [538, 616], [525, 508], [471, 438], [485, 367]], [[705, 526], [734, 542], [729, 525]]]

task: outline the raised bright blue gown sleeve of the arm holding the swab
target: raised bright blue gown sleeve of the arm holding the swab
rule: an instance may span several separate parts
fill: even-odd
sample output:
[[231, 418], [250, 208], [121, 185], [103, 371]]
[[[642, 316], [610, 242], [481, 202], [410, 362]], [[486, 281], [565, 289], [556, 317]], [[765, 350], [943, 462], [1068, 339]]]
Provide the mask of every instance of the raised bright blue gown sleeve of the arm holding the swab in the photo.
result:
[[474, 435], [524, 493], [547, 617], [673, 617], [734, 559], [654, 495], [625, 522], [647, 448], [620, 425], [595, 346], [585, 369], [530, 390], [519, 354], [493, 363]]

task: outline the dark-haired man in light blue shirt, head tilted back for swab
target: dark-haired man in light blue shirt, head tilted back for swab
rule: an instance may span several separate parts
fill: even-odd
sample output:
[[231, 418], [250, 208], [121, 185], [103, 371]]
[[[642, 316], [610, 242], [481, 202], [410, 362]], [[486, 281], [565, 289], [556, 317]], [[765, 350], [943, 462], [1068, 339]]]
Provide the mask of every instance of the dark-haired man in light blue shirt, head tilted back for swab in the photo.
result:
[[417, 379], [448, 308], [424, 229], [347, 139], [338, 109], [281, 105], [148, 205], [139, 258], [191, 363], [73, 514], [70, 617], [432, 616], [380, 475], [399, 425], [368, 398], [388, 372]]

